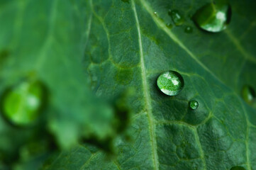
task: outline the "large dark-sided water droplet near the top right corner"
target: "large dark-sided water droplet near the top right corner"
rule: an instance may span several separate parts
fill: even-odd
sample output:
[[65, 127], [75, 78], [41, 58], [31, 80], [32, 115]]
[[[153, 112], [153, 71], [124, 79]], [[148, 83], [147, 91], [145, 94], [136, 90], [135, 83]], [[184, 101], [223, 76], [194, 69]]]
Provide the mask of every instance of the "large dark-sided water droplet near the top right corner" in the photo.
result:
[[231, 8], [228, 4], [206, 4], [192, 17], [199, 28], [217, 33], [224, 30], [230, 22]]

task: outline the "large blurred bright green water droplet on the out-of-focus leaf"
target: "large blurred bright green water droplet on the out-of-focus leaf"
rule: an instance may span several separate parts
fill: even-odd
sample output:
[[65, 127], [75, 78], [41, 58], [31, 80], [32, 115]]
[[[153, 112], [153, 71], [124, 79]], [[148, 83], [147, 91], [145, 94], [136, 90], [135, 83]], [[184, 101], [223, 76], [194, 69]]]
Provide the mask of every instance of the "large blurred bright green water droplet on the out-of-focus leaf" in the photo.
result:
[[45, 96], [45, 86], [39, 81], [21, 81], [4, 93], [1, 112], [14, 125], [30, 125], [38, 118]]

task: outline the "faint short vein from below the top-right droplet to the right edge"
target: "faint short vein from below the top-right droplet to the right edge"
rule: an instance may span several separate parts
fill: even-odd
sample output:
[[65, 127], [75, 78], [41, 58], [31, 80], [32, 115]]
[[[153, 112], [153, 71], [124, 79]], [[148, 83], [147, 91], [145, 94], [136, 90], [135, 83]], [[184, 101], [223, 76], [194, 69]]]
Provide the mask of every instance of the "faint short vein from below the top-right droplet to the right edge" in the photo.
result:
[[235, 38], [232, 35], [232, 33], [230, 33], [230, 31], [228, 29], [225, 30], [225, 33], [228, 35], [228, 38], [230, 38], [230, 40], [235, 44], [235, 47], [238, 48], [238, 50], [241, 52], [243, 57], [245, 57], [246, 60], [249, 60], [250, 62], [256, 63], [256, 58], [253, 57], [252, 55], [250, 55], [248, 52], [245, 51], [243, 46], [240, 44], [239, 40], [237, 38]]

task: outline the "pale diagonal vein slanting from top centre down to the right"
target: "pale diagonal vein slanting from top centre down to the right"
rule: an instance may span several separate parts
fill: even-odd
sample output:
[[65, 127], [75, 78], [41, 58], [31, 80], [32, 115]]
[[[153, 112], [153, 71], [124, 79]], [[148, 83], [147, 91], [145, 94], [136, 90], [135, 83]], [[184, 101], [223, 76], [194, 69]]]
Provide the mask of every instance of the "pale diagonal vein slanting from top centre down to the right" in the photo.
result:
[[169, 38], [171, 38], [174, 42], [177, 43], [177, 45], [179, 45], [179, 47], [182, 47], [182, 49], [187, 52], [187, 54], [189, 54], [189, 56], [191, 58], [194, 59], [194, 61], [196, 61], [201, 67], [203, 67], [208, 73], [210, 73], [215, 79], [217, 79], [218, 81], [220, 81], [222, 84], [223, 81], [221, 81], [221, 79], [218, 79], [218, 77], [216, 77], [215, 74], [213, 74], [213, 72], [211, 72], [210, 69], [208, 69], [208, 67], [206, 67], [200, 60], [198, 60], [198, 58], [196, 57], [196, 55], [194, 55], [184, 44], [183, 42], [181, 42], [176, 35], [174, 35], [169, 28], [167, 28], [167, 26], [165, 26], [165, 23], [163, 23], [162, 21], [158, 20], [157, 17], [154, 16], [154, 11], [152, 10], [152, 8], [148, 5], [147, 2], [145, 2], [145, 0], [140, 0], [141, 4], [143, 4], [143, 6], [145, 7], [145, 9], [148, 11], [148, 13], [150, 13], [150, 16], [152, 17], [152, 19], [155, 21], [155, 23], [157, 24], [157, 26], [159, 26], [160, 28], [162, 28], [162, 30], [165, 31], [165, 33], [167, 33], [167, 35], [169, 35]]

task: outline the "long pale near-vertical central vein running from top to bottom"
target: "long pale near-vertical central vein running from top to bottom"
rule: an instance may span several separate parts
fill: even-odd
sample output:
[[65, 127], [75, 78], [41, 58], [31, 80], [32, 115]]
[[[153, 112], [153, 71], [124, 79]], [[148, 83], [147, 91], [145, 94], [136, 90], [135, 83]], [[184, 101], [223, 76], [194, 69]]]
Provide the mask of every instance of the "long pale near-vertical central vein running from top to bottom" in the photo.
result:
[[158, 156], [157, 156], [157, 142], [155, 140], [155, 125], [154, 125], [154, 119], [152, 115], [152, 106], [150, 103], [150, 96], [149, 96], [149, 91], [148, 91], [148, 84], [147, 84], [147, 78], [146, 78], [146, 72], [145, 72], [145, 63], [144, 63], [144, 57], [143, 57], [143, 45], [142, 45], [142, 39], [140, 35], [140, 23], [138, 21], [138, 15], [137, 11], [135, 8], [135, 3], [132, 0], [131, 5], [134, 11], [135, 15], [135, 21], [136, 21], [136, 26], [138, 29], [138, 41], [139, 41], [139, 46], [140, 46], [140, 67], [141, 67], [141, 75], [143, 78], [143, 93], [145, 96], [145, 105], [148, 111], [148, 122], [150, 125], [150, 140], [151, 140], [151, 145], [152, 145], [152, 157], [153, 157], [153, 164], [155, 166], [155, 169], [159, 169], [159, 162], [158, 162]]

